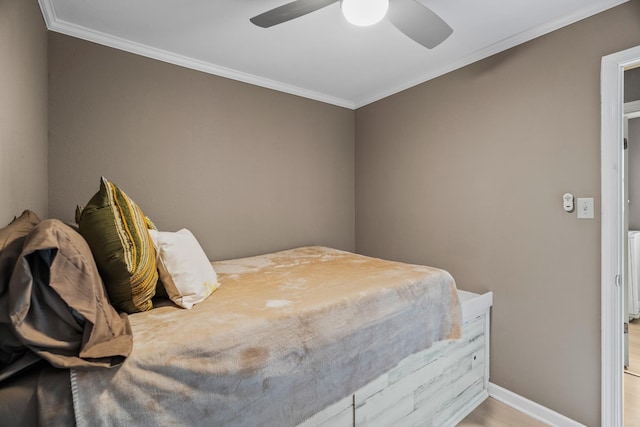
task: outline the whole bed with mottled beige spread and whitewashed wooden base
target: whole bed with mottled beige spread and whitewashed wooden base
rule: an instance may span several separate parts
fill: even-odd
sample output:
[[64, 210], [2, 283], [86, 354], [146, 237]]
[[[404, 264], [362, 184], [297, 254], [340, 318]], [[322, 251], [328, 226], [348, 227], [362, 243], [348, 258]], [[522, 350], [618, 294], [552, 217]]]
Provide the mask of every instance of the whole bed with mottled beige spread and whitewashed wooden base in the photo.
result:
[[491, 294], [458, 291], [446, 271], [317, 246], [213, 267], [221, 286], [192, 309], [155, 301], [126, 317], [115, 345], [133, 336], [130, 353], [0, 383], [0, 420], [442, 426], [487, 396]]

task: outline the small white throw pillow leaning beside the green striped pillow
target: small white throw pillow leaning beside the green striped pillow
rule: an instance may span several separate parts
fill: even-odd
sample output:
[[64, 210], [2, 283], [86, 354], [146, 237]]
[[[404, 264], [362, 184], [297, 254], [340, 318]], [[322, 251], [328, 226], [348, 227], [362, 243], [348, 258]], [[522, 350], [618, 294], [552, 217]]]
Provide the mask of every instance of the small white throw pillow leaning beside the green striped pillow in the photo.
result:
[[189, 230], [149, 230], [149, 234], [158, 256], [160, 280], [171, 301], [191, 308], [220, 287], [211, 262]]

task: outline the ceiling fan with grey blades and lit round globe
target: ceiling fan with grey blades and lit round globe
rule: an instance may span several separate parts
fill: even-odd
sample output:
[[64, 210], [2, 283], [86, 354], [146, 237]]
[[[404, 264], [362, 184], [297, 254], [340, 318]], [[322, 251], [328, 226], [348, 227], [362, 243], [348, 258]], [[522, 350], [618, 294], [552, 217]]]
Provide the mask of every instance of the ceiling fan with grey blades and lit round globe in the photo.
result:
[[[431, 9], [416, 0], [295, 0], [254, 16], [250, 21], [259, 27], [269, 28], [315, 12], [337, 1], [340, 1], [345, 18], [355, 25], [371, 25], [380, 21], [386, 14], [389, 21], [391, 21], [398, 30], [429, 49], [438, 46], [453, 33], [453, 29], [449, 24], [436, 15]], [[347, 16], [352, 1], [362, 3], [363, 7], [369, 9], [372, 3], [382, 2], [383, 6], [381, 7], [383, 9], [382, 12], [378, 13], [378, 16], [373, 19], [373, 22], [365, 24], [353, 22], [350, 20], [350, 17]]]

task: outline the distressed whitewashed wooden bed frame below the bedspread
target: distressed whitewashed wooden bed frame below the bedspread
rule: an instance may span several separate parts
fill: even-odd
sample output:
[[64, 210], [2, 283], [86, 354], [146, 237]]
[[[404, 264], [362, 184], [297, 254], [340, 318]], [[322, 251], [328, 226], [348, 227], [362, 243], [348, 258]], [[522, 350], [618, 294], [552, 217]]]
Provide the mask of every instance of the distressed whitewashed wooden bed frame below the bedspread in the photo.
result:
[[402, 360], [299, 427], [455, 426], [488, 396], [493, 293], [458, 291], [462, 338]]

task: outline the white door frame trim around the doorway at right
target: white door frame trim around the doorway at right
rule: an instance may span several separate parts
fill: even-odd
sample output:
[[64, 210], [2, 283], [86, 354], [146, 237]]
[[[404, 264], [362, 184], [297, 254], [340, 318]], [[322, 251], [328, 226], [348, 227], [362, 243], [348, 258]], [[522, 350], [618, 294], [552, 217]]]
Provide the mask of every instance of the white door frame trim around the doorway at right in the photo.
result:
[[604, 56], [601, 71], [601, 406], [602, 426], [623, 426], [622, 146], [624, 69], [640, 63], [640, 46]]

